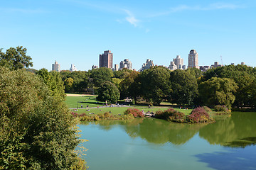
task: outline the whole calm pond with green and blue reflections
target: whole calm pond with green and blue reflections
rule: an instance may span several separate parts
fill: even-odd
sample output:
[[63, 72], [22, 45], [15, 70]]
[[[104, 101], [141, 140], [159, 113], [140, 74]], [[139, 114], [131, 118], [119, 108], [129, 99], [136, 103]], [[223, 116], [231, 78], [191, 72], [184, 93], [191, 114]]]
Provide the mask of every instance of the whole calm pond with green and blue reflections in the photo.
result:
[[256, 169], [256, 113], [188, 125], [153, 118], [79, 125], [92, 170]]

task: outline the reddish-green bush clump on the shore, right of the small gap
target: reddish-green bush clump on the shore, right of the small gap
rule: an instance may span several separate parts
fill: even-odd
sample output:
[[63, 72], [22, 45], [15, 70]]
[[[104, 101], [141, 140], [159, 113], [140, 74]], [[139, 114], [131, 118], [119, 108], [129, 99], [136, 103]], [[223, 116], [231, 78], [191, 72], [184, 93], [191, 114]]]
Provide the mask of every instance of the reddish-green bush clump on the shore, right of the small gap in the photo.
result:
[[[207, 111], [206, 111], [207, 110]], [[210, 108], [198, 107], [193, 109], [190, 115], [178, 112], [173, 108], [169, 108], [166, 111], [156, 112], [155, 118], [168, 120], [176, 123], [215, 123], [215, 120], [211, 118]]]

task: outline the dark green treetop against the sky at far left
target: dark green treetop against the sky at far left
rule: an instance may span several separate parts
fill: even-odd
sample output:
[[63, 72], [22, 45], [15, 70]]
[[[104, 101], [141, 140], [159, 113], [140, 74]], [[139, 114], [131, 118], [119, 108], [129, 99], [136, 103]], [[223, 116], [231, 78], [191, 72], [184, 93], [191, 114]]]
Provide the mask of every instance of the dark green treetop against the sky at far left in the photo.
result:
[[24, 67], [33, 67], [32, 58], [26, 55], [26, 48], [18, 46], [10, 47], [6, 52], [1, 52], [0, 49], [0, 65], [8, 67], [11, 70], [22, 69]]

